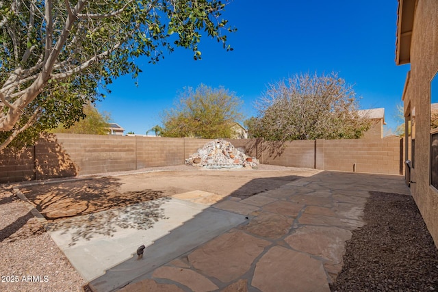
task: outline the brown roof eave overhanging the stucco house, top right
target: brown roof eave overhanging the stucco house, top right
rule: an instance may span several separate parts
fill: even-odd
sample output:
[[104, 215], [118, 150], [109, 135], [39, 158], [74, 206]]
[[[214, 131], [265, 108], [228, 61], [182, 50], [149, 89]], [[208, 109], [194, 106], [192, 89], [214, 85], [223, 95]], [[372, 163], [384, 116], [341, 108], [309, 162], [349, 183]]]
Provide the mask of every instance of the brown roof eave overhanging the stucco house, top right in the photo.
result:
[[396, 64], [411, 62], [411, 38], [413, 18], [415, 14], [415, 0], [398, 0]]

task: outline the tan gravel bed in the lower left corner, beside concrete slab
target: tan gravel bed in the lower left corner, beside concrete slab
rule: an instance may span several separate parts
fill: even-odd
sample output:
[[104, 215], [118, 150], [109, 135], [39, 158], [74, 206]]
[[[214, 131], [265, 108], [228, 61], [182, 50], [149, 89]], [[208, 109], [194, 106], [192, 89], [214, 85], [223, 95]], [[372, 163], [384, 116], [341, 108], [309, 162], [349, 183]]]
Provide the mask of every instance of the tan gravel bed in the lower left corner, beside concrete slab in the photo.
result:
[[83, 291], [85, 281], [29, 213], [0, 186], [0, 291]]

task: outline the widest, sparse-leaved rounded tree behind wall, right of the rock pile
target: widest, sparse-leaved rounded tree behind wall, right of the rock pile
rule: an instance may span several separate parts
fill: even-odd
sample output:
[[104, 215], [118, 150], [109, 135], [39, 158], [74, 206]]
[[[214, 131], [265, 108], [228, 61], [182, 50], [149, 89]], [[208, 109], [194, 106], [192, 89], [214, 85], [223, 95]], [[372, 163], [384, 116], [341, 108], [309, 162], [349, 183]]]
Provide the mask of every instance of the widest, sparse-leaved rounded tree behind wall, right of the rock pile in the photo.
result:
[[257, 101], [253, 135], [266, 140], [359, 138], [370, 120], [359, 116], [351, 85], [331, 75], [295, 75], [268, 86]]

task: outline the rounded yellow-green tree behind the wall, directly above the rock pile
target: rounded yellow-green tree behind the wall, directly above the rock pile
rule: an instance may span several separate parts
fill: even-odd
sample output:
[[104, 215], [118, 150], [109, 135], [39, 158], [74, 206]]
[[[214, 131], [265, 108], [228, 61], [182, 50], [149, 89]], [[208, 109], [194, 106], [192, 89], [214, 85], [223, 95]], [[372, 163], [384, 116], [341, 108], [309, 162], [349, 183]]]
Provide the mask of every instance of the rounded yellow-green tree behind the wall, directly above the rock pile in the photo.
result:
[[163, 137], [231, 137], [231, 127], [242, 118], [242, 101], [224, 88], [199, 85], [186, 88], [175, 108], [164, 111]]

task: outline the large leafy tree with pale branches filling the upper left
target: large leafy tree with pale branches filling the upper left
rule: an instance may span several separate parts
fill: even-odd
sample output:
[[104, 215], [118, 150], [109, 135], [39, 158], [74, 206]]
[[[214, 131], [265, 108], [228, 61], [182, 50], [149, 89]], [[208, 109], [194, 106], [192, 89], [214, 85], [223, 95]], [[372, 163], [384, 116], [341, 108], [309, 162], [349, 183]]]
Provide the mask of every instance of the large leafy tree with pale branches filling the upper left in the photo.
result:
[[222, 42], [228, 0], [0, 1], [0, 150], [16, 137], [68, 127], [112, 79], [184, 47], [201, 57], [201, 35]]

